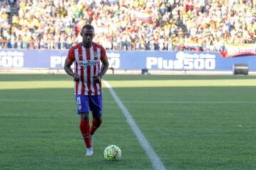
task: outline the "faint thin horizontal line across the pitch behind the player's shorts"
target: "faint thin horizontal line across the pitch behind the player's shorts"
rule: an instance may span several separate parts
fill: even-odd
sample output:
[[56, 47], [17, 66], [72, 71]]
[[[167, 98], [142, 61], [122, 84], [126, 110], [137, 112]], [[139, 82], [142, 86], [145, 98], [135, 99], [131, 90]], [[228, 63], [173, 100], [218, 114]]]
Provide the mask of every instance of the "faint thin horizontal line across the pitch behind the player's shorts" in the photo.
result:
[[[0, 98], [0, 101], [6, 102], [43, 102], [43, 103], [74, 103], [74, 100], [43, 100], [43, 99], [12, 99]], [[256, 101], [123, 101], [124, 103], [163, 103], [163, 104], [210, 104], [210, 103], [256, 103]], [[114, 101], [104, 101], [104, 103], [115, 103]]]

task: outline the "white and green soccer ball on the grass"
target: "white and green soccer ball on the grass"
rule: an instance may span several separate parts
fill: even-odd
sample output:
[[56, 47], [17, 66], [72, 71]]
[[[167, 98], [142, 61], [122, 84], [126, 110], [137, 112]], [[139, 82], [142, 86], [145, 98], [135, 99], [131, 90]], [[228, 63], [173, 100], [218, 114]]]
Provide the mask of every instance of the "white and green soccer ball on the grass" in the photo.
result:
[[119, 161], [122, 157], [122, 151], [117, 145], [110, 145], [104, 150], [104, 158], [107, 160]]

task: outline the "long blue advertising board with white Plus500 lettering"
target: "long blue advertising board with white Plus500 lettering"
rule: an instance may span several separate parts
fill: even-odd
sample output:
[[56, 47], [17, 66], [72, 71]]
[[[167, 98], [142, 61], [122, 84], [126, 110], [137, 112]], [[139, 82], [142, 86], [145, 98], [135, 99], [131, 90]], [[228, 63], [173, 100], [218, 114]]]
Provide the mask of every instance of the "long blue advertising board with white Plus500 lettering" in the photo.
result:
[[[68, 50], [0, 50], [1, 68], [63, 69]], [[119, 70], [232, 71], [247, 64], [256, 71], [256, 56], [222, 57], [219, 52], [107, 51], [110, 67]]]

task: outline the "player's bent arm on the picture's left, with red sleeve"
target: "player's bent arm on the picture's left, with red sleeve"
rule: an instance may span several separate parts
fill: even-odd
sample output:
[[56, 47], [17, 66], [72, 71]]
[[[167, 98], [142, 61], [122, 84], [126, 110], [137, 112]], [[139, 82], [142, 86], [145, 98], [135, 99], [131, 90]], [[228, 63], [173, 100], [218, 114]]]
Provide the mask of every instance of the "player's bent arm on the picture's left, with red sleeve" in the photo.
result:
[[65, 60], [64, 70], [68, 75], [73, 77], [73, 79], [75, 81], [79, 81], [79, 79], [80, 79], [79, 75], [77, 73], [73, 72], [73, 69], [71, 69], [71, 65], [73, 64], [74, 61], [75, 61], [75, 56], [73, 56], [73, 50], [70, 49], [68, 52], [68, 57]]

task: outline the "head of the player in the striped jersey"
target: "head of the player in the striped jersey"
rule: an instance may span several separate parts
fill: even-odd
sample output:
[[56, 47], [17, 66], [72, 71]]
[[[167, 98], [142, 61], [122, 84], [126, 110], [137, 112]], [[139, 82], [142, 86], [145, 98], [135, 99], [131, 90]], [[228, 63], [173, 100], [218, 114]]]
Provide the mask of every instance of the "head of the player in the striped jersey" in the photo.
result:
[[95, 36], [95, 29], [90, 24], [86, 24], [82, 27], [81, 36], [82, 42], [85, 45], [90, 45], [92, 43], [92, 39]]

